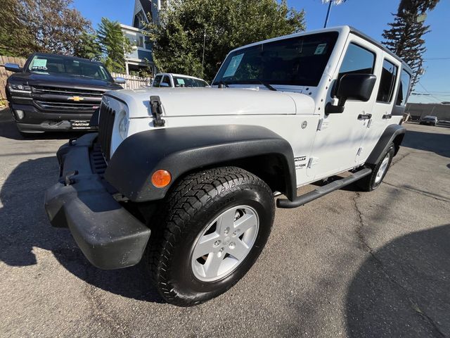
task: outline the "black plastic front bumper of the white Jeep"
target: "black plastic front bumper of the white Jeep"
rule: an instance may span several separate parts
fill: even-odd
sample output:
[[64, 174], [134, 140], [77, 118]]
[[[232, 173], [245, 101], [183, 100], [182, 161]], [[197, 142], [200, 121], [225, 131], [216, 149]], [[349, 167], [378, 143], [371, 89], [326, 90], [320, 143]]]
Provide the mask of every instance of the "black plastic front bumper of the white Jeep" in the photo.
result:
[[91, 168], [96, 133], [58, 150], [60, 182], [46, 191], [45, 209], [54, 227], [69, 227], [84, 256], [102, 269], [126, 268], [141, 261], [150, 229], [108, 192]]

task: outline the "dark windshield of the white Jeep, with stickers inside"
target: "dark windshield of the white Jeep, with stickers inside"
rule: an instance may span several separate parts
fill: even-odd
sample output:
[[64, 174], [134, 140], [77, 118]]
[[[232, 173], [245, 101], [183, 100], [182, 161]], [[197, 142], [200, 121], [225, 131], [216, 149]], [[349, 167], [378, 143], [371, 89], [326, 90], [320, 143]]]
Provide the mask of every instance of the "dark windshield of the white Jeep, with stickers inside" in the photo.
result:
[[233, 51], [213, 84], [317, 86], [337, 38], [338, 32], [326, 32]]

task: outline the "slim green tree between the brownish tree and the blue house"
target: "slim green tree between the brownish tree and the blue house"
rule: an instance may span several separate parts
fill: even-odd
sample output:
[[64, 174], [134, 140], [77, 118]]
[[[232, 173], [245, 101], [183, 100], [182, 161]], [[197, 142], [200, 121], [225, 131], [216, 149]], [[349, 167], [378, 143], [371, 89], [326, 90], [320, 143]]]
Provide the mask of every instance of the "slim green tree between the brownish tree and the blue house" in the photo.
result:
[[132, 50], [131, 42], [122, 32], [122, 27], [117, 21], [107, 18], [101, 19], [97, 30], [98, 43], [103, 54], [102, 61], [110, 72], [124, 73], [125, 53]]

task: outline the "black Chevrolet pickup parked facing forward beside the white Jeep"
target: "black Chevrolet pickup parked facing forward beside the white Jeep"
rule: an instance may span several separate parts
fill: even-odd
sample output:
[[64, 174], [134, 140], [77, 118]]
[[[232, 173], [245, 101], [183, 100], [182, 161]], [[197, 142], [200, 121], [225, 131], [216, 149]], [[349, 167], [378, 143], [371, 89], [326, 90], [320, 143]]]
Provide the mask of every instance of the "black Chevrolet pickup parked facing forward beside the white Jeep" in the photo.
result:
[[89, 130], [91, 115], [108, 90], [122, 89], [100, 62], [57, 54], [32, 54], [25, 66], [5, 64], [14, 72], [6, 97], [21, 133]]

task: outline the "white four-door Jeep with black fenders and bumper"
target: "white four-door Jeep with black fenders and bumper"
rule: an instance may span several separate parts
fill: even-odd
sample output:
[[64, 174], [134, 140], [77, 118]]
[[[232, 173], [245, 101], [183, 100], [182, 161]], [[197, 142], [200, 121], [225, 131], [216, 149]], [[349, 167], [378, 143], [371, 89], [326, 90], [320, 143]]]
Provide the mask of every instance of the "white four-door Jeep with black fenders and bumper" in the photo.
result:
[[98, 268], [144, 258], [166, 301], [202, 303], [255, 263], [275, 194], [294, 208], [352, 182], [378, 187], [404, 137], [410, 79], [344, 26], [231, 51], [211, 88], [108, 92], [98, 134], [58, 151], [46, 212]]

